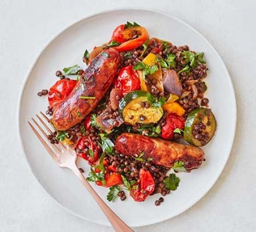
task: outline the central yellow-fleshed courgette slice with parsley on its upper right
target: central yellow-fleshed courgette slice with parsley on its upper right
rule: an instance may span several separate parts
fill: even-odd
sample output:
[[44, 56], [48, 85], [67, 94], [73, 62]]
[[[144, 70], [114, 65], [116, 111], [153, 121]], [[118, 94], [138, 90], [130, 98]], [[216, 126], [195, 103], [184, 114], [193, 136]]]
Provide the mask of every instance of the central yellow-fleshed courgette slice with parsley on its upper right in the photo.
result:
[[148, 102], [150, 94], [137, 90], [130, 92], [119, 102], [119, 112], [125, 123], [136, 125], [136, 123], [149, 124], [158, 122], [163, 115], [161, 107], [143, 107], [143, 103]]

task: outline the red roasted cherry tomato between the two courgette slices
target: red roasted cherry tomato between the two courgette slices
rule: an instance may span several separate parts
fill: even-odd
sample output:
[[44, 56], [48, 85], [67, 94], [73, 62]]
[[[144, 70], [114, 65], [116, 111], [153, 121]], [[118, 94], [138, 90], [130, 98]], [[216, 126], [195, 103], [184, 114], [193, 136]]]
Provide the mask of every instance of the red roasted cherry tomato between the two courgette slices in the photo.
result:
[[166, 117], [166, 122], [162, 126], [162, 138], [165, 140], [171, 140], [174, 137], [174, 130], [179, 128], [184, 129], [185, 120], [174, 113], [170, 113]]

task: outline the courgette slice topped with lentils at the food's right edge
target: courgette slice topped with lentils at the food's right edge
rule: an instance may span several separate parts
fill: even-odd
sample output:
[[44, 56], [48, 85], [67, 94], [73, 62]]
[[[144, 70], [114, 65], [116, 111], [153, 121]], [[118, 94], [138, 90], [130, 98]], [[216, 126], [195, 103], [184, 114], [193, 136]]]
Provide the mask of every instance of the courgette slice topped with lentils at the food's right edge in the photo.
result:
[[[200, 133], [197, 133], [197, 128]], [[191, 111], [185, 121], [184, 139], [192, 145], [202, 147], [214, 136], [217, 122], [210, 109], [197, 108]]]

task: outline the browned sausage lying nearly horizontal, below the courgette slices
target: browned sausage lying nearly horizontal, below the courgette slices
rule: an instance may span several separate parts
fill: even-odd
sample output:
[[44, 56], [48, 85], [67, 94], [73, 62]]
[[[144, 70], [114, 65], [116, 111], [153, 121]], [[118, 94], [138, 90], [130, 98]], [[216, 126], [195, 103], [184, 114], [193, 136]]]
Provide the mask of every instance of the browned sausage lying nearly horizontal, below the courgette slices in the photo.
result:
[[199, 168], [204, 160], [201, 148], [141, 134], [122, 133], [116, 139], [115, 148], [127, 156], [143, 152], [143, 158], [152, 158], [154, 164], [167, 168], [172, 168], [176, 161], [183, 161], [187, 171]]

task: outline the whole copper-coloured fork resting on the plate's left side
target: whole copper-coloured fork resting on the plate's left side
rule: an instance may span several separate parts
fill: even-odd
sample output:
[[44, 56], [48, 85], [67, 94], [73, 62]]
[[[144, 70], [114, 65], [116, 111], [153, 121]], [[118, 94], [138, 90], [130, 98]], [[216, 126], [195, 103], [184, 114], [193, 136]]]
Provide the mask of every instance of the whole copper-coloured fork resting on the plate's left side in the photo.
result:
[[[40, 111], [42, 118], [38, 114], [36, 114], [36, 118], [39, 120], [42, 126], [44, 126], [45, 130], [50, 133], [51, 135], [54, 134], [55, 129], [53, 129], [52, 124], [50, 123], [50, 119]], [[62, 143], [58, 144], [51, 144], [49, 143], [47, 133], [42, 127], [37, 123], [37, 121], [34, 118], [31, 118], [33, 123], [36, 125], [38, 130], [41, 132], [41, 134], [45, 137], [41, 136], [41, 134], [38, 132], [38, 130], [35, 129], [35, 127], [28, 121], [29, 126], [41, 142], [41, 144], [46, 148], [48, 153], [51, 155], [55, 163], [60, 168], [68, 168], [71, 171], [74, 172], [74, 174], [78, 177], [78, 179], [82, 182], [84, 187], [87, 188], [89, 193], [92, 195], [92, 197], [95, 199], [105, 216], [109, 219], [110, 223], [112, 224], [113, 228], [116, 231], [134, 231], [129, 226], [127, 226], [112, 210], [111, 208], [100, 198], [100, 196], [96, 193], [96, 191], [92, 188], [91, 184], [87, 181], [87, 179], [81, 174], [80, 170], [77, 168], [76, 160], [77, 160], [77, 154], [75, 150], [71, 149], [70, 147], [64, 146]], [[46, 122], [47, 123], [46, 123]], [[52, 129], [47, 125], [49, 124]], [[50, 146], [49, 146], [50, 145]]]

